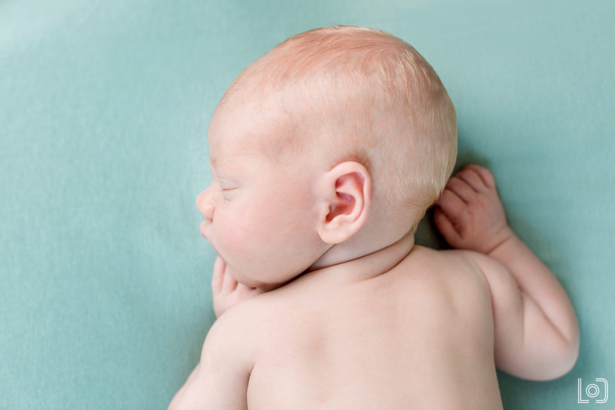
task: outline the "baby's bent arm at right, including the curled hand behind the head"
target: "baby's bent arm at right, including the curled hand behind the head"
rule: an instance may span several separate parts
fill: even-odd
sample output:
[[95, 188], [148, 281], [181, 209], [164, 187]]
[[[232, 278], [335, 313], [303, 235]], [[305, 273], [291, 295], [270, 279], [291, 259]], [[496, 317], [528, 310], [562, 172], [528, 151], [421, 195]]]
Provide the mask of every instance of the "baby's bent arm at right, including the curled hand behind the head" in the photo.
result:
[[506, 223], [490, 171], [467, 165], [434, 210], [446, 241], [485, 275], [491, 290], [496, 366], [523, 379], [550, 380], [576, 363], [579, 327], [557, 278]]

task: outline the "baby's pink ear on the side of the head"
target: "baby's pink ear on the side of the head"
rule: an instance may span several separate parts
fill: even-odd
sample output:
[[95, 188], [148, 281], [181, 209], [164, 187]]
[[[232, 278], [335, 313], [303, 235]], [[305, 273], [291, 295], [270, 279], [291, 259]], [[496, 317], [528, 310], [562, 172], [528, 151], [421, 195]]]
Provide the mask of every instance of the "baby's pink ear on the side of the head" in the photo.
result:
[[371, 176], [358, 162], [342, 162], [322, 176], [317, 195], [320, 239], [326, 243], [344, 242], [359, 231], [367, 219]]

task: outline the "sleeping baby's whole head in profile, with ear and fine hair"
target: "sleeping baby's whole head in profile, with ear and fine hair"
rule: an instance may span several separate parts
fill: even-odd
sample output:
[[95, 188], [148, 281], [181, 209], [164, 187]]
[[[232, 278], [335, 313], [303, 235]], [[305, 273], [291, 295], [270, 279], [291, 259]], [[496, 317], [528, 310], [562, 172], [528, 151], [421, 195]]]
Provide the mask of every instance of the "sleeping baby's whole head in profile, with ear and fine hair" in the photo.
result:
[[242, 71], [208, 142], [202, 232], [238, 282], [269, 290], [319, 260], [359, 258], [413, 234], [453, 171], [456, 115], [413, 47], [332, 26]]

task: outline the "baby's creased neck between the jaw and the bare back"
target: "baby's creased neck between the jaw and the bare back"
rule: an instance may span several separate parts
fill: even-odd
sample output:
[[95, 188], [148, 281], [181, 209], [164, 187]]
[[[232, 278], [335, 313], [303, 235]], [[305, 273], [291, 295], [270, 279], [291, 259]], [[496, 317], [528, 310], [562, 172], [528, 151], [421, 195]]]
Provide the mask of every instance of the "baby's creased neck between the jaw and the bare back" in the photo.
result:
[[[328, 259], [321, 258], [304, 271], [301, 276], [328, 277], [333, 280], [365, 280], [384, 274], [401, 262], [415, 245], [415, 236], [408, 233], [397, 242], [371, 251], [352, 259], [343, 254], [330, 254]], [[336, 261], [337, 258], [337, 261]]]

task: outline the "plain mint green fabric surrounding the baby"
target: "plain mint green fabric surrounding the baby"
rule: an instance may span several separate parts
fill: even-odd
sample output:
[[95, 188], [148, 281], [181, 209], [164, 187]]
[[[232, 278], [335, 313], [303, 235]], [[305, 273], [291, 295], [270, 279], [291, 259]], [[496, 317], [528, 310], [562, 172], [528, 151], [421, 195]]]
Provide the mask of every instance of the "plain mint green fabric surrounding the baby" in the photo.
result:
[[[458, 168], [493, 170], [576, 307], [577, 365], [499, 373], [504, 407], [613, 406], [576, 389], [615, 386], [614, 23], [611, 1], [0, 1], [0, 409], [166, 408], [214, 320], [194, 203], [213, 109], [258, 56], [333, 24], [430, 61]], [[429, 222], [418, 243], [444, 245]]]

